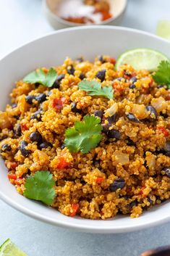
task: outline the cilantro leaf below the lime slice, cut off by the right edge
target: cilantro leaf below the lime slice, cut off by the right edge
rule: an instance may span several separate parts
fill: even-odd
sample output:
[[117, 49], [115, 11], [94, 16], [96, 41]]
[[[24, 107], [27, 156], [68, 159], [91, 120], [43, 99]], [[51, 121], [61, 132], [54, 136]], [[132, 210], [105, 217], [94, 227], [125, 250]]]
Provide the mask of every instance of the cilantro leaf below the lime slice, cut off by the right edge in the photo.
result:
[[153, 75], [156, 83], [163, 83], [170, 88], [170, 62], [162, 61], [158, 65], [158, 71]]

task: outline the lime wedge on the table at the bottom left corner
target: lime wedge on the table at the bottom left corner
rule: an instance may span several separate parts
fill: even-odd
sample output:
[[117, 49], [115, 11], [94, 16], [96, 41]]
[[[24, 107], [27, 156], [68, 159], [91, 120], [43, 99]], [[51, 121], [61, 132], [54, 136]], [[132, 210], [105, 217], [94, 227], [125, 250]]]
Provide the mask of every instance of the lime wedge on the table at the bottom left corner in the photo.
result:
[[4, 241], [0, 247], [0, 256], [27, 256], [10, 239]]

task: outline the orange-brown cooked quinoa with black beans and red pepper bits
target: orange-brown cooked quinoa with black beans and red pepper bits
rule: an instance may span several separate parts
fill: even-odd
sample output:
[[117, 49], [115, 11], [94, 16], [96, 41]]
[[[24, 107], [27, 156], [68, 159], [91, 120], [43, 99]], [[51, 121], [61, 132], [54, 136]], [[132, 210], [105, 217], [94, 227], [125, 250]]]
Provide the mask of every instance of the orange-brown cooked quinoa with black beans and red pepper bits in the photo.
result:
[[[64, 215], [135, 218], [169, 199], [170, 91], [147, 70], [114, 65], [109, 56], [93, 63], [67, 58], [55, 67], [56, 88], [16, 83], [12, 104], [0, 112], [0, 149], [20, 194], [27, 177], [48, 170], [56, 191], [51, 207]], [[112, 86], [114, 98], [80, 90], [85, 78]], [[103, 138], [87, 154], [71, 153], [65, 131], [85, 115], [101, 118]]]

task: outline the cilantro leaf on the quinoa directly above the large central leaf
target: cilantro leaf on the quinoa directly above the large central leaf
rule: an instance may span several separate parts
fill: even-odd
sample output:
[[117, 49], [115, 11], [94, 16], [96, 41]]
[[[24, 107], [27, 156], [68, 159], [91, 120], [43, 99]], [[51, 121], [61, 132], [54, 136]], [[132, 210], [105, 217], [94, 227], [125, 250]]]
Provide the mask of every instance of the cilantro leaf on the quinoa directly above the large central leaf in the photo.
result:
[[100, 95], [105, 96], [108, 99], [113, 99], [114, 90], [112, 86], [101, 87], [101, 83], [95, 80], [82, 80], [78, 83], [80, 90], [88, 91], [88, 95]]

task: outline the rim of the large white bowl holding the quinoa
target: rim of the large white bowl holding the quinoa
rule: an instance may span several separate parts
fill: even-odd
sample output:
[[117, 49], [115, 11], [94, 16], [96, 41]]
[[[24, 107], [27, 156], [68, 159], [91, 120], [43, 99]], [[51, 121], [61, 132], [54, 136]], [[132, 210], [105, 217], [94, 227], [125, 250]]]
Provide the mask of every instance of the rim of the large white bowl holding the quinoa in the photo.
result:
[[[149, 36], [150, 38], [156, 38], [158, 41], [162, 41], [163, 43], [166, 42], [166, 44], [169, 44], [170, 47], [170, 43], [168, 40], [164, 39], [164, 38], [159, 38], [158, 36], [153, 35], [152, 33], [148, 33], [142, 30], [137, 30], [137, 29], [133, 29], [133, 28], [124, 28], [124, 27], [116, 27], [116, 26], [111, 26], [111, 25], [89, 25], [89, 26], [78, 26], [78, 27], [74, 27], [74, 28], [64, 28], [62, 30], [54, 30], [50, 33], [46, 33], [44, 36], [38, 36], [38, 38], [35, 38], [33, 40], [28, 41], [25, 44], [21, 44], [20, 46], [16, 47], [14, 50], [9, 51], [9, 53], [4, 54], [4, 57], [1, 57], [0, 62], [3, 61], [3, 59], [6, 59], [7, 57], [9, 57], [10, 54], [12, 54], [14, 51], [17, 51], [19, 49], [22, 49], [23, 47], [34, 43], [35, 41], [41, 41], [42, 38], [46, 38], [48, 36], [52, 36], [55, 34], [61, 34], [61, 33], [67, 33], [70, 31], [74, 31], [74, 30], [98, 30], [98, 29], [102, 29], [102, 30], [120, 30], [120, 31], [129, 31], [132, 33], [138, 33], [138, 34], [142, 34], [145, 36]], [[20, 194], [18, 194], [20, 196]], [[124, 228], [122, 228], [122, 226], [105, 226], [104, 228], [101, 226], [93, 226], [93, 228], [90, 228], [90, 225], [86, 225], [85, 223], [73, 223], [71, 221], [65, 221], [65, 220], [58, 220], [57, 218], [51, 219], [50, 217], [46, 216], [46, 215], [41, 215], [38, 212], [34, 212], [33, 210], [30, 210], [27, 207], [23, 207], [20, 203], [13, 201], [10, 197], [7, 197], [6, 194], [4, 194], [1, 189], [0, 189], [0, 199], [2, 199], [4, 202], [6, 202], [8, 205], [10, 205], [11, 207], [13, 207], [16, 210], [19, 210], [22, 213], [25, 213], [25, 215], [28, 215], [32, 218], [35, 218], [37, 220], [41, 220], [45, 223], [50, 223], [52, 225], [55, 226], [59, 226], [59, 227], [63, 227], [63, 228], [72, 228], [75, 229], [76, 231], [84, 231], [84, 232], [91, 232], [91, 233], [102, 233], [102, 234], [116, 234], [116, 233], [126, 233], [126, 232], [130, 232], [130, 231], [137, 231], [137, 230], [141, 230], [143, 228], [149, 228], [151, 226], [155, 226], [155, 225], [159, 225], [161, 223], [165, 223], [167, 221], [170, 220], [170, 214], [166, 215], [166, 216], [160, 216], [159, 218], [157, 218], [156, 220], [150, 219], [145, 221], [145, 223], [135, 223], [134, 226], [125, 226]], [[169, 203], [169, 202], [168, 202]], [[90, 220], [89, 220], [90, 221]], [[107, 221], [107, 220], [95, 220], [95, 221]]]

